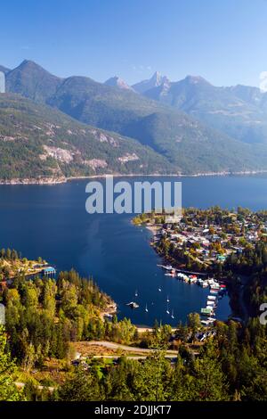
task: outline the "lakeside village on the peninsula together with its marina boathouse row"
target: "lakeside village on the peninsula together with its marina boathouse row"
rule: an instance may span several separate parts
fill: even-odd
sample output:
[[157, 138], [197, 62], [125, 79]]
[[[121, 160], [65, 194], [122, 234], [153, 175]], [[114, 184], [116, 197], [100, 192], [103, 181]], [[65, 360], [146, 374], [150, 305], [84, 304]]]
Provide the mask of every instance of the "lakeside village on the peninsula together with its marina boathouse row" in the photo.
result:
[[267, 214], [248, 209], [183, 209], [182, 217], [142, 214], [134, 224], [153, 233], [151, 245], [165, 259], [158, 265], [166, 276], [209, 288], [206, 307], [200, 309], [203, 325], [213, 324], [218, 300], [227, 292], [223, 275], [238, 258], [267, 239]]

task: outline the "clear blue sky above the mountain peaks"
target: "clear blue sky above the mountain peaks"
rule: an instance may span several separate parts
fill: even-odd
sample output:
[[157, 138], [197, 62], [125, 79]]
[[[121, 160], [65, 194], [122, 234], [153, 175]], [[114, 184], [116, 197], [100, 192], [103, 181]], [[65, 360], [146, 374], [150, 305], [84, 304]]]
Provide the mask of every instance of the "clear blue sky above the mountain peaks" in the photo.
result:
[[0, 64], [62, 77], [133, 84], [158, 70], [259, 86], [267, 71], [267, 0], [10, 0], [0, 34]]

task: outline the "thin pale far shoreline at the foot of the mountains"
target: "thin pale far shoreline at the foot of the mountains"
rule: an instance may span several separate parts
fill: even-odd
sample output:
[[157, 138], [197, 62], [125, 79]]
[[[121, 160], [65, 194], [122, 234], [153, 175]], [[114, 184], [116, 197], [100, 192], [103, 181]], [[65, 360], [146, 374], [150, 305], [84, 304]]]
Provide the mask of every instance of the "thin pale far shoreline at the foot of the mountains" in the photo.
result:
[[204, 172], [204, 173], [195, 173], [195, 174], [160, 174], [154, 173], [150, 175], [140, 174], [103, 174], [103, 175], [91, 175], [91, 176], [77, 176], [77, 177], [42, 177], [42, 178], [14, 178], [10, 180], [0, 179], [0, 185], [61, 185], [67, 184], [68, 182], [75, 180], [84, 180], [84, 179], [96, 179], [104, 177], [231, 177], [231, 176], [255, 176], [255, 175], [264, 175], [267, 174], [266, 170], [244, 170], [237, 172], [223, 171], [223, 172]]

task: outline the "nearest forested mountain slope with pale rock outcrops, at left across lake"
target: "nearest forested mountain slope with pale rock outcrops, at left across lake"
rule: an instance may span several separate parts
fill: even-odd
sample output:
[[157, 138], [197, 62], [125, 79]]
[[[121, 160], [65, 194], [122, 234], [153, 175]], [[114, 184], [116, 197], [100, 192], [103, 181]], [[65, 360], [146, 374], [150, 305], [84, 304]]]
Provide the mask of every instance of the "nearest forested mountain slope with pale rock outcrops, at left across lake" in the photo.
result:
[[174, 173], [138, 142], [88, 127], [17, 94], [0, 94], [0, 179]]

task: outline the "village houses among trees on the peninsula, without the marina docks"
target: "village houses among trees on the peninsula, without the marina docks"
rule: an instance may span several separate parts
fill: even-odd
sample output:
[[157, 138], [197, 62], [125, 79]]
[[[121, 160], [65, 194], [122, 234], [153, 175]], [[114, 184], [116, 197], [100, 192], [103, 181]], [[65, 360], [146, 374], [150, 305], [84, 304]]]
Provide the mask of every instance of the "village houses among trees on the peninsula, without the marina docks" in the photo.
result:
[[153, 230], [156, 247], [163, 252], [182, 251], [183, 259], [195, 262], [201, 270], [267, 240], [267, 214], [248, 209], [184, 209], [182, 218], [175, 222], [171, 217], [165, 222], [162, 216], [150, 214], [142, 223]]

